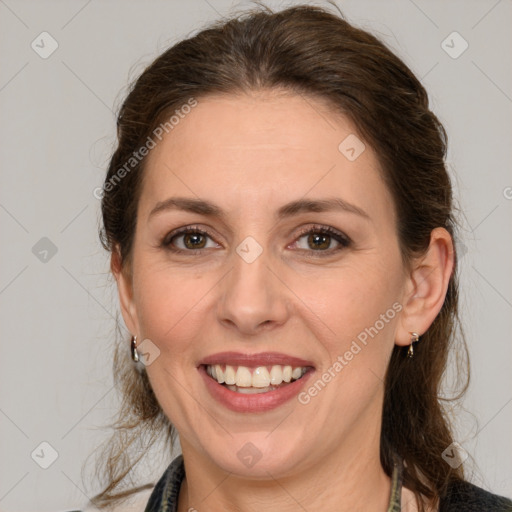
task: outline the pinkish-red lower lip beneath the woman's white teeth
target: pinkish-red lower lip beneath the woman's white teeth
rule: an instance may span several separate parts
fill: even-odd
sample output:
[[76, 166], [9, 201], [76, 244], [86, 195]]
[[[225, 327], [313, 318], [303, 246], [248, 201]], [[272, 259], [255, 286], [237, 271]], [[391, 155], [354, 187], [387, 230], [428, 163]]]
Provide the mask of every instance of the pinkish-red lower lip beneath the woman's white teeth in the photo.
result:
[[300, 379], [279, 389], [248, 395], [231, 391], [226, 386], [219, 384], [206, 373], [205, 366], [199, 366], [198, 370], [213, 398], [236, 412], [265, 412], [275, 409], [298, 395], [314, 373], [314, 370], [309, 370]]

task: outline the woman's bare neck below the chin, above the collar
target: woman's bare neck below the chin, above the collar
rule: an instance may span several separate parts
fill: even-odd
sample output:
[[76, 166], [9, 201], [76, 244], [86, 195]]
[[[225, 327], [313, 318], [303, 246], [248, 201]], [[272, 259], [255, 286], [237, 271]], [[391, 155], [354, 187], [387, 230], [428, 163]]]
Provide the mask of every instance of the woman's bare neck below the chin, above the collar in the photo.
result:
[[[377, 422], [378, 423], [378, 422]], [[208, 510], [322, 510], [322, 512], [387, 511], [391, 478], [379, 455], [380, 425], [361, 439], [346, 439], [328, 456], [292, 476], [266, 480], [238, 477], [197, 457], [182, 442], [186, 478], [178, 512]], [[188, 464], [187, 464], [188, 462]]]

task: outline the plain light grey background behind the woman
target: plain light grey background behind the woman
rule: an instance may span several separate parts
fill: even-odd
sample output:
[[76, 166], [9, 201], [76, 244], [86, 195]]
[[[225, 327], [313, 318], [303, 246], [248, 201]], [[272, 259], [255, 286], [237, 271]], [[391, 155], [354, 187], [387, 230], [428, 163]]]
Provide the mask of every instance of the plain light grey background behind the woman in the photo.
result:
[[[71, 509], [96, 490], [81, 469], [106, 439], [100, 427], [116, 404], [110, 357], [118, 306], [93, 196], [115, 141], [112, 110], [129, 79], [165, 47], [244, 5], [0, 0], [4, 512]], [[473, 374], [457, 411], [456, 439], [474, 459], [466, 461], [472, 481], [512, 497], [512, 4], [338, 5], [421, 78], [448, 131], [448, 161], [464, 212], [461, 302]], [[46, 59], [31, 47], [43, 31], [58, 43]], [[454, 31], [469, 44], [458, 58], [445, 51], [446, 45], [452, 54], [463, 48], [458, 36], [446, 39]], [[45, 41], [40, 46], [48, 51]], [[44, 441], [58, 453], [48, 469], [35, 462], [50, 461]], [[142, 474], [154, 481], [163, 464]]]

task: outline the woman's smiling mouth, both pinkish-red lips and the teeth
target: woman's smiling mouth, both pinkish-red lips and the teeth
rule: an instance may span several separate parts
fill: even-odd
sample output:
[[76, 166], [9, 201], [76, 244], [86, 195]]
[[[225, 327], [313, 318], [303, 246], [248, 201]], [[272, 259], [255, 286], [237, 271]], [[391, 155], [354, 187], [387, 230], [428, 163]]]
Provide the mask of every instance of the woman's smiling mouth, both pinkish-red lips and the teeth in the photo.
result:
[[210, 394], [237, 412], [264, 412], [297, 395], [315, 367], [310, 361], [266, 352], [222, 353], [198, 366]]

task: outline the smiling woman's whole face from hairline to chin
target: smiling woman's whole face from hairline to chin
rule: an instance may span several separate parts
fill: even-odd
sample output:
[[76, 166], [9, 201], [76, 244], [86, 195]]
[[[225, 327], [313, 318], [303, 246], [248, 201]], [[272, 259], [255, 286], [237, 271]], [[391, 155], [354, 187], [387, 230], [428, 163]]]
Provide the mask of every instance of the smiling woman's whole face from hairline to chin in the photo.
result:
[[[147, 160], [131, 271], [123, 314], [185, 457], [276, 477], [378, 446], [406, 274], [348, 120], [276, 92], [199, 99]], [[306, 373], [247, 393], [286, 366]]]

